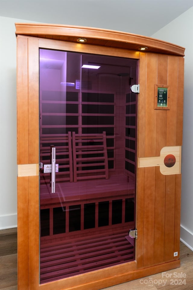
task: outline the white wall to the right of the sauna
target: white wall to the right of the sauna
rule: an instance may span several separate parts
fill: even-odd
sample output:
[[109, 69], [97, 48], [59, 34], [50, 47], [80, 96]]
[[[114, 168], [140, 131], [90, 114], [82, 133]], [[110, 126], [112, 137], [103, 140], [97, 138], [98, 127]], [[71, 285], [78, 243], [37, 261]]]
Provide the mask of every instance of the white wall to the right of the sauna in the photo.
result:
[[185, 47], [181, 240], [193, 250], [193, 7], [152, 37]]

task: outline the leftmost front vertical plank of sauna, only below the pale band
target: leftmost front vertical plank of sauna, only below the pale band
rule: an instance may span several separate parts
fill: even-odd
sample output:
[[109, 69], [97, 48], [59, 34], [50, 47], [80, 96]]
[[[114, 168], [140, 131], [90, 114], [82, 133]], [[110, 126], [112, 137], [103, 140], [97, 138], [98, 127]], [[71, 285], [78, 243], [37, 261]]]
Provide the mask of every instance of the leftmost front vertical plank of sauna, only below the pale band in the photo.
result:
[[17, 177], [17, 287], [28, 289], [29, 282], [29, 177]]

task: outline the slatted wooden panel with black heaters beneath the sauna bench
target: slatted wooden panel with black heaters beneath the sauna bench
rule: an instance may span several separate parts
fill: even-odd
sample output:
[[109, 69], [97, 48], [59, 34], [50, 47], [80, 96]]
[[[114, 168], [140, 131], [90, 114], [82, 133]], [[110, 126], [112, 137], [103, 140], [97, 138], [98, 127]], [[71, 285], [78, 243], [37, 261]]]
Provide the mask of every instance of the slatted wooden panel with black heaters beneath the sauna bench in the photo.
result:
[[[117, 229], [125, 229], [125, 233], [128, 232], [128, 228], [133, 228], [134, 227], [134, 221], [131, 220], [131, 214], [134, 211], [134, 205], [132, 202], [132, 195], [129, 198], [125, 198], [125, 197], [112, 197], [112, 198], [105, 198], [102, 200], [102, 202], [106, 202], [106, 208], [109, 207], [108, 211], [108, 217], [106, 216], [106, 220], [105, 218], [103, 218], [102, 213], [99, 210], [99, 205], [102, 203], [101, 201], [98, 201], [96, 199], [93, 200], [92, 205], [94, 205], [94, 209], [93, 212], [91, 213], [90, 211], [90, 219], [93, 219], [95, 221], [95, 223], [90, 226], [90, 227], [84, 227], [84, 213], [85, 213], [85, 206], [89, 205], [89, 203], [86, 202], [82, 202], [82, 201], [77, 201], [77, 202], [70, 202], [70, 203], [64, 203], [62, 204], [63, 208], [61, 207], [61, 205], [45, 205], [42, 206], [41, 209], [41, 217], [43, 217], [42, 214], [43, 211], [46, 210], [46, 214], [45, 214], [45, 222], [42, 223], [44, 228], [46, 228], [46, 232], [41, 232], [41, 245], [43, 245], [44, 243], [48, 243], [48, 242], [54, 242], [56, 240], [68, 240], [68, 239], [73, 239], [75, 237], [86, 237], [89, 235], [97, 235], [97, 234], [107, 234], [107, 233], [111, 233], [114, 231], [117, 231]], [[116, 211], [116, 205], [118, 202], [121, 201], [121, 208], [119, 210], [119, 216], [117, 215], [117, 211]], [[113, 205], [114, 206], [113, 206]], [[75, 218], [74, 216], [70, 217], [69, 214], [69, 208], [71, 208], [72, 206], [77, 206], [77, 208], [80, 208], [80, 215]], [[125, 214], [127, 208], [130, 208], [131, 214], [129, 214], [127, 212], [127, 214]], [[59, 209], [61, 211], [63, 211], [63, 231], [56, 233], [55, 232], [55, 227], [57, 227], [57, 220], [56, 217], [54, 218], [53, 215], [53, 211], [54, 209]], [[49, 210], [49, 212], [47, 211]], [[119, 220], [120, 222], [115, 223], [115, 220], [113, 222], [113, 216], [116, 218], [118, 217], [119, 219], [121, 218], [121, 220]], [[108, 223], [103, 224], [103, 225], [99, 225], [99, 221], [101, 221], [103, 219], [103, 221], [107, 222], [108, 219]], [[88, 221], [88, 219], [87, 219]], [[75, 224], [75, 225], [79, 225], [79, 228], [77, 227], [76, 229], [70, 229], [69, 224]], [[113, 230], [112, 230], [113, 229]], [[81, 230], [81, 232], [80, 232]]]

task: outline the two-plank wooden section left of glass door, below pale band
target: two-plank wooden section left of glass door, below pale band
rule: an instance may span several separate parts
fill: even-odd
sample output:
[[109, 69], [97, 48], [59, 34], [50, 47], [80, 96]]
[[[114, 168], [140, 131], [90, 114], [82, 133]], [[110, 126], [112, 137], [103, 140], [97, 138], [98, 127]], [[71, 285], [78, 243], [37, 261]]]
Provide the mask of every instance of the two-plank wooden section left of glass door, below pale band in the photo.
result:
[[[18, 289], [28, 289], [29, 283], [39, 279], [39, 176], [17, 178], [18, 188]], [[25, 193], [25, 194], [24, 194]], [[27, 205], [31, 206], [28, 207]], [[33, 249], [33, 250], [32, 250]], [[34, 259], [34, 256], [37, 259]], [[31, 273], [29, 275], [29, 273]]]

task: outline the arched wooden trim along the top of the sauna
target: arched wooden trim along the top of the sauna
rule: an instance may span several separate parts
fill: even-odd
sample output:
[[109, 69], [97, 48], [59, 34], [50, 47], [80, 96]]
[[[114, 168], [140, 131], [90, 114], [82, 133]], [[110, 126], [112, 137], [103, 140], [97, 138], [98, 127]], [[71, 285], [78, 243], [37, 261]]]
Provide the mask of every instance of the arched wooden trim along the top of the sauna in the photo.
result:
[[[148, 47], [148, 50], [146, 50], [147, 52], [178, 56], [184, 56], [185, 51], [184, 47], [151, 37], [100, 28], [37, 23], [16, 23], [15, 26], [16, 35], [27, 35], [70, 42], [76, 42], [77, 38], [84, 37], [87, 39], [88, 44], [129, 50], [139, 50], [139, 47], [145, 46]], [[86, 43], [84, 45], [86, 45]]]

